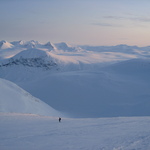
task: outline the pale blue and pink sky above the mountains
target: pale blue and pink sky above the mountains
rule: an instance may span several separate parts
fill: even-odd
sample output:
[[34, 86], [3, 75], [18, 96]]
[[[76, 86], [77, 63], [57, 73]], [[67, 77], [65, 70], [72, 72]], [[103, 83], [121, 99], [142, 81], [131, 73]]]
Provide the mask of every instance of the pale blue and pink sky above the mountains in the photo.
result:
[[150, 45], [150, 0], [0, 0], [0, 40]]

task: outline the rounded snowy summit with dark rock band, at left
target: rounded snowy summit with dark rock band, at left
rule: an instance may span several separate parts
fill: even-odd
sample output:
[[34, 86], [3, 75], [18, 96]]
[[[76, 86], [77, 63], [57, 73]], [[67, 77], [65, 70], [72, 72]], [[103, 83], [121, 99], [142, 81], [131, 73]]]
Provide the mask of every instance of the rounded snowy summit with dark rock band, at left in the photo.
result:
[[44, 50], [31, 48], [21, 51], [14, 57], [7, 59], [0, 67], [23, 65], [24, 67], [38, 67], [46, 70], [56, 66], [56, 63], [52, 60], [49, 53]]

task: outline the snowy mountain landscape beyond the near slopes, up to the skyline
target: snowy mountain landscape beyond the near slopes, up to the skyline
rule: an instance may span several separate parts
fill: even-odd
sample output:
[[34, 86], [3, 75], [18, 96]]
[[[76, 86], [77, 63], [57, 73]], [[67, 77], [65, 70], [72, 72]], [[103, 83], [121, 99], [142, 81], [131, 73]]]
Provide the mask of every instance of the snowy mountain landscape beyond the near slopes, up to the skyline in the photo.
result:
[[149, 47], [35, 45], [5, 50], [0, 77], [72, 117], [150, 115]]

